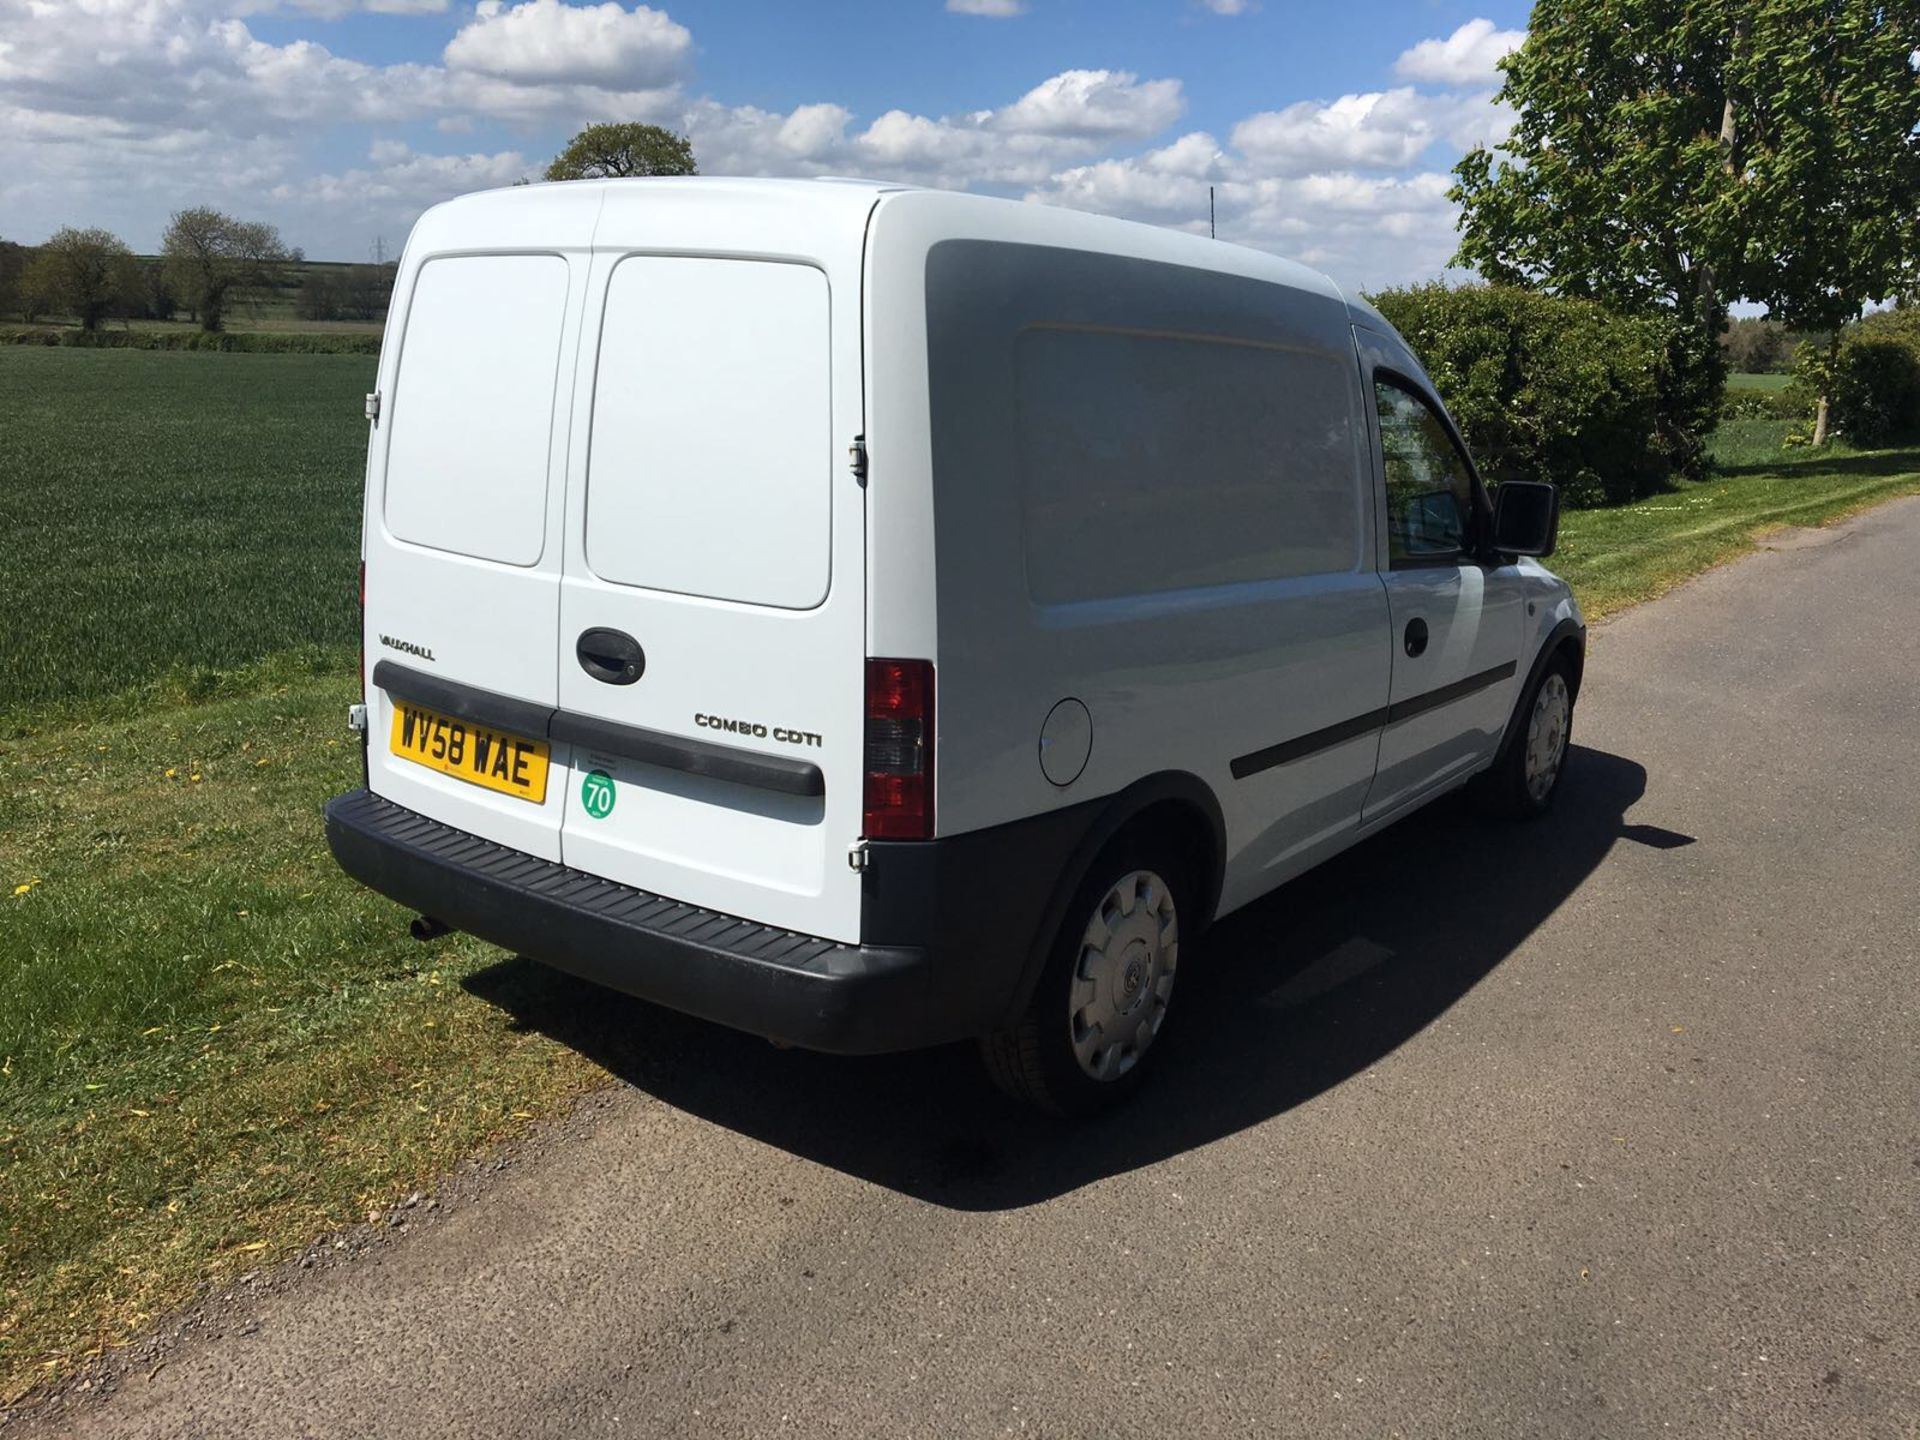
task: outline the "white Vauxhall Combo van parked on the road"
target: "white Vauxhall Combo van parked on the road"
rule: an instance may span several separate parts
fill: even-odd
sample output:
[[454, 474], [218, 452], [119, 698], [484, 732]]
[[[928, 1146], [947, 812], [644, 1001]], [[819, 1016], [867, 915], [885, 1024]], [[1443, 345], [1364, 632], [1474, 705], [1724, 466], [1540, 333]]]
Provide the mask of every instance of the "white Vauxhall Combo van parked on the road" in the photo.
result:
[[1194, 937], [1484, 776], [1584, 624], [1419, 361], [1192, 234], [841, 180], [467, 196], [369, 396], [340, 864], [783, 1044], [1140, 1079]]

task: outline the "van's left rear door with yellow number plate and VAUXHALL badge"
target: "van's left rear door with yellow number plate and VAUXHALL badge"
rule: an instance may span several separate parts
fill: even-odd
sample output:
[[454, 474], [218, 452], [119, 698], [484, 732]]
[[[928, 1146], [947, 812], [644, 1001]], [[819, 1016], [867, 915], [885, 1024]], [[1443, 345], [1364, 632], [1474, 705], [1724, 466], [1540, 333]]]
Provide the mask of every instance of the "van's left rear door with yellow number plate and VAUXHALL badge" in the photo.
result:
[[540, 205], [480, 196], [420, 219], [369, 445], [369, 787], [545, 860], [561, 858], [566, 747], [545, 724], [597, 209], [584, 188]]

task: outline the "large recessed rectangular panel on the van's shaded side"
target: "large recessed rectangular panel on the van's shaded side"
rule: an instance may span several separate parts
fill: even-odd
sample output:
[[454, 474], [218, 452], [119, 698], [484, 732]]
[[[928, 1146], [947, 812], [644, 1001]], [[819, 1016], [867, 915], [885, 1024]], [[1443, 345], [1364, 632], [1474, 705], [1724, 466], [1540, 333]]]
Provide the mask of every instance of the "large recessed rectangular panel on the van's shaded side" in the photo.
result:
[[1352, 570], [1352, 369], [1246, 340], [1029, 324], [1014, 342], [1027, 593], [1073, 603]]

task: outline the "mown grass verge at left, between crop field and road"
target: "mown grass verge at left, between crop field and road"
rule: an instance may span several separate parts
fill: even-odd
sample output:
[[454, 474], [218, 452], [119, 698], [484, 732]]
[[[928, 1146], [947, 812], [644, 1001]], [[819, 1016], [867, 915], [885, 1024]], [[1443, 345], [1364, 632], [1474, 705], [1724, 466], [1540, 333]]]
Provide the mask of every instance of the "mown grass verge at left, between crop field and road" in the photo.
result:
[[0, 743], [0, 1404], [599, 1079], [334, 868], [351, 689]]

